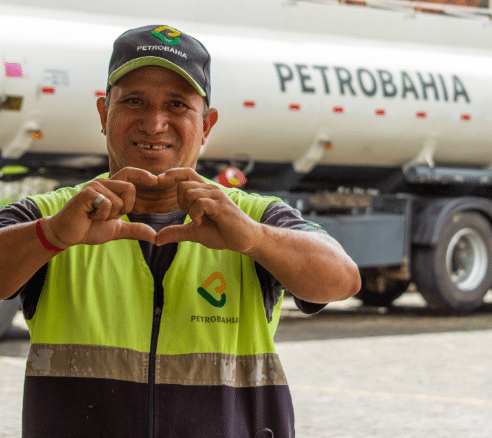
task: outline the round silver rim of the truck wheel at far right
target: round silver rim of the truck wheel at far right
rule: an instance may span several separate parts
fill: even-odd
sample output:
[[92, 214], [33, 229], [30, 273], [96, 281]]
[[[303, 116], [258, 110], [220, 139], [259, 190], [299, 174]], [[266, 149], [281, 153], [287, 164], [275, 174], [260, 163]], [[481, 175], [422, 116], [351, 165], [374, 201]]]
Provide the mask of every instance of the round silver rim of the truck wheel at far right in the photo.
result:
[[446, 251], [446, 269], [454, 285], [462, 291], [476, 289], [485, 278], [489, 263], [487, 246], [473, 228], [459, 230]]

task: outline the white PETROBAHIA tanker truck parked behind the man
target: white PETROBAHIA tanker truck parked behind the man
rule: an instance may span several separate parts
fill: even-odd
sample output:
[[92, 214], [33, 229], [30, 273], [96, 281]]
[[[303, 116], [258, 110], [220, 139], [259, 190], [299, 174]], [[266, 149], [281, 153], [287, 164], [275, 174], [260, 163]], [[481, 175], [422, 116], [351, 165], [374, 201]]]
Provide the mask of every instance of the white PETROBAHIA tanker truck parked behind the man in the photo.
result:
[[60, 184], [102, 173], [112, 42], [168, 24], [212, 54], [202, 175], [240, 171], [320, 224], [357, 262], [365, 304], [413, 282], [434, 309], [473, 311], [492, 285], [491, 10], [352, 3], [4, 1], [2, 166]]

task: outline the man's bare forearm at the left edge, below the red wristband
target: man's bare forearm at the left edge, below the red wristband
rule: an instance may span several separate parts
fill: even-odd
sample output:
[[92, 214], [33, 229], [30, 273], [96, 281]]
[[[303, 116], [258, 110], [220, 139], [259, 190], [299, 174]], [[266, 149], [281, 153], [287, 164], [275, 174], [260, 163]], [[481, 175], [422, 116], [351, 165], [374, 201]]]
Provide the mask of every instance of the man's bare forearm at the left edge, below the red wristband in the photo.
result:
[[0, 299], [16, 293], [55, 255], [36, 235], [36, 222], [0, 229]]

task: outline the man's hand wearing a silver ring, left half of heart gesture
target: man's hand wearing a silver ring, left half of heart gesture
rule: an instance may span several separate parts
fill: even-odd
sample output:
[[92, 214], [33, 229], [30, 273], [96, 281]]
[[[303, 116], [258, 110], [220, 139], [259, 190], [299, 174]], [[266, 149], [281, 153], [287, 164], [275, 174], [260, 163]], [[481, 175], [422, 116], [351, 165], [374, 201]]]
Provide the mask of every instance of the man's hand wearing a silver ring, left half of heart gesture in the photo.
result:
[[[80, 243], [97, 245], [111, 240], [134, 239], [155, 242], [155, 231], [142, 223], [120, 218], [133, 209], [135, 185], [154, 186], [158, 178], [146, 170], [126, 167], [109, 179], [87, 184], [53, 216], [41, 221], [48, 241], [61, 249]], [[92, 203], [104, 195], [97, 209]]]

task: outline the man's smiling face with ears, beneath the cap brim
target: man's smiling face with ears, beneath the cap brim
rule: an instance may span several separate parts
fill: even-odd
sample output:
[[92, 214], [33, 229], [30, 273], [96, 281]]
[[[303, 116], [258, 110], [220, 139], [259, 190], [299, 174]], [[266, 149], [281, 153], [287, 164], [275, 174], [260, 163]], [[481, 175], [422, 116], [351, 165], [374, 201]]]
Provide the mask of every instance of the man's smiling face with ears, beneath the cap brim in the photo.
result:
[[203, 115], [205, 102], [182, 76], [162, 67], [141, 67], [111, 89], [109, 107], [98, 101], [107, 136], [110, 175], [138, 167], [159, 175], [195, 168], [201, 146], [217, 121]]

